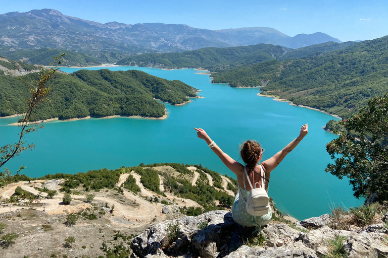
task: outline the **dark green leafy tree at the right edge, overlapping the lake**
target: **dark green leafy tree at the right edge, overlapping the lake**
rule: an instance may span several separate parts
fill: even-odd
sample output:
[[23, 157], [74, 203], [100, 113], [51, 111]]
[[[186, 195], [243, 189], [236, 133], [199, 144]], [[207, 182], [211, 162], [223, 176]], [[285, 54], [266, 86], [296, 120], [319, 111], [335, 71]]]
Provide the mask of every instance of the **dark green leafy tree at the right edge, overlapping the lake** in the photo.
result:
[[334, 159], [326, 172], [350, 179], [356, 198], [367, 202], [388, 200], [388, 93], [341, 122], [347, 132], [326, 146]]

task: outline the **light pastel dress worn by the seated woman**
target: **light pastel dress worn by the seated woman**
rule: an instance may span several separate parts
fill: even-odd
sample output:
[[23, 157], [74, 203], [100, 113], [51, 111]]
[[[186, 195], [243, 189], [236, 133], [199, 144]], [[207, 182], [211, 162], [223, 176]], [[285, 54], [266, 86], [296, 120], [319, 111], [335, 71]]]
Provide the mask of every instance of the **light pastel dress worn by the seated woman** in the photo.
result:
[[[263, 170], [263, 168], [261, 166], [260, 166], [260, 168]], [[245, 167], [244, 167], [244, 170], [245, 170]], [[244, 182], [244, 184], [245, 184], [245, 182]], [[266, 191], [268, 193], [268, 188], [266, 189]], [[236, 223], [240, 224], [241, 226], [246, 226], [246, 227], [265, 226], [272, 219], [272, 211], [271, 211], [271, 209], [269, 209], [268, 213], [266, 215], [262, 215], [262, 216], [250, 215], [245, 208], [245, 205], [246, 205], [245, 201], [248, 199], [250, 192], [251, 191], [249, 191], [247, 189], [243, 189], [238, 185], [238, 192], [236, 194], [236, 197], [234, 198], [234, 202], [233, 202], [233, 206], [232, 206], [233, 220]], [[241, 200], [241, 197], [243, 197], [244, 200]]]

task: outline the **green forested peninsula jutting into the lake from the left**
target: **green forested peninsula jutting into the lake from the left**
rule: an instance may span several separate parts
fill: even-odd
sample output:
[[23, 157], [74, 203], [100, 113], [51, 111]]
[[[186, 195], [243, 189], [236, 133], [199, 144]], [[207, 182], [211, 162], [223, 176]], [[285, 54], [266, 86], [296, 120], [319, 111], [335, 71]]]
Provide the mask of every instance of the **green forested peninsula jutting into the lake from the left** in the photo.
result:
[[[0, 76], [0, 116], [22, 113], [29, 97], [25, 81], [37, 80], [37, 74], [16, 77]], [[140, 115], [161, 117], [165, 106], [155, 99], [171, 104], [194, 97], [195, 89], [180, 81], [168, 81], [141, 71], [80, 70], [73, 74], [57, 74], [48, 85], [49, 102], [34, 110], [34, 120], [85, 116]], [[155, 99], [154, 99], [155, 98]]]

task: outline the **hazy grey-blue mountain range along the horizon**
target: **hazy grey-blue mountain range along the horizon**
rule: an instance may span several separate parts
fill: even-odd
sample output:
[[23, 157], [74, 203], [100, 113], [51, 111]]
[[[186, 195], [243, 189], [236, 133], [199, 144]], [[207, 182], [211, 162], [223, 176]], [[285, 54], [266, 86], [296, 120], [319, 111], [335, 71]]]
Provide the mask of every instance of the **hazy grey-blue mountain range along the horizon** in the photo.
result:
[[51, 47], [83, 53], [115, 51], [125, 54], [259, 43], [299, 48], [328, 41], [341, 42], [321, 32], [290, 37], [266, 27], [208, 30], [182, 24], [102, 24], [66, 16], [53, 9], [1, 14], [0, 35], [0, 46], [16, 49]]

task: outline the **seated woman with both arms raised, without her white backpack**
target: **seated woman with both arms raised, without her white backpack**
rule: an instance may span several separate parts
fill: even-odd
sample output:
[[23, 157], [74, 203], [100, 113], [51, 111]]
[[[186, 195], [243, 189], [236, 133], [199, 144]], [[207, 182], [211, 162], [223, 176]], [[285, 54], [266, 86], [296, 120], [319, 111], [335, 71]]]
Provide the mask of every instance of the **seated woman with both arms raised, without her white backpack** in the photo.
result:
[[[260, 160], [263, 157], [264, 149], [261, 148], [260, 144], [256, 141], [247, 141], [241, 145], [240, 155], [243, 161], [246, 163], [243, 164], [235, 161], [229, 155], [224, 153], [212, 139], [206, 134], [206, 132], [201, 128], [194, 128], [197, 131], [197, 136], [200, 139], [205, 140], [208, 146], [212, 151], [217, 154], [221, 161], [237, 176], [238, 189], [239, 191], [236, 194], [234, 203], [232, 206], [232, 217], [235, 222], [242, 226], [253, 227], [253, 226], [265, 226], [272, 218], [271, 209], [269, 209], [268, 214], [262, 216], [251, 216], [246, 211], [246, 200], [248, 198], [249, 192], [252, 189], [252, 185], [260, 184], [260, 187], [268, 193], [268, 184], [271, 171], [275, 169], [277, 165], [284, 159], [290, 151], [294, 150], [295, 147], [303, 140], [307, 135], [307, 124], [302, 125], [301, 132], [299, 136], [287, 146], [285, 146], [281, 151], [276, 153], [270, 159], [267, 159], [260, 163]], [[246, 173], [245, 173], [246, 171]], [[248, 175], [248, 178], [247, 176]], [[249, 180], [248, 180], [249, 179]], [[263, 180], [262, 180], [263, 179]], [[241, 196], [243, 199], [241, 199]]]

